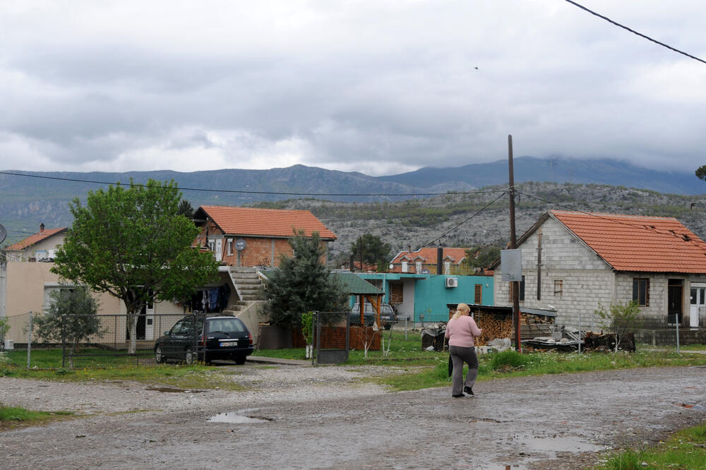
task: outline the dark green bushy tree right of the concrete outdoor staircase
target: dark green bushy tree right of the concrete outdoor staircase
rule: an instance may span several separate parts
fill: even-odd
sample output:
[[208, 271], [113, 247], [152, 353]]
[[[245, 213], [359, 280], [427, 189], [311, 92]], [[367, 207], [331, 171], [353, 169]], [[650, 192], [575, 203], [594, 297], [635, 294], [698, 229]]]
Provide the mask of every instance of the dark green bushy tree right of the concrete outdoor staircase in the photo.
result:
[[280, 256], [280, 267], [270, 275], [266, 311], [273, 325], [301, 326], [301, 313], [345, 311], [348, 294], [340, 280], [321, 263], [321, 237], [303, 231], [289, 239], [294, 256]]

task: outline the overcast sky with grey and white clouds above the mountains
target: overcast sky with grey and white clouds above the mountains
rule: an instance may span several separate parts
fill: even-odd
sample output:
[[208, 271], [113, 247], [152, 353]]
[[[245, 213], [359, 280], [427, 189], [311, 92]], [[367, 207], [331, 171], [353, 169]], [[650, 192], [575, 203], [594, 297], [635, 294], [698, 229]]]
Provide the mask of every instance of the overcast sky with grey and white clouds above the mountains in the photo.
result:
[[[706, 60], [702, 0], [579, 3]], [[706, 64], [563, 0], [0, 2], [0, 169], [706, 164]]]

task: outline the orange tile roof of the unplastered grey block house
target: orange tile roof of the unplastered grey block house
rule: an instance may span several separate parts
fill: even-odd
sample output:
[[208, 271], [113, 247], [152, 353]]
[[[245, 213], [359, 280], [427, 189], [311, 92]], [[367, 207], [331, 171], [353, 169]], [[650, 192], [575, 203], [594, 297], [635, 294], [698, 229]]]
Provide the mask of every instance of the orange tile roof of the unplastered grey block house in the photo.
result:
[[615, 270], [706, 273], [706, 243], [674, 217], [549, 213]]

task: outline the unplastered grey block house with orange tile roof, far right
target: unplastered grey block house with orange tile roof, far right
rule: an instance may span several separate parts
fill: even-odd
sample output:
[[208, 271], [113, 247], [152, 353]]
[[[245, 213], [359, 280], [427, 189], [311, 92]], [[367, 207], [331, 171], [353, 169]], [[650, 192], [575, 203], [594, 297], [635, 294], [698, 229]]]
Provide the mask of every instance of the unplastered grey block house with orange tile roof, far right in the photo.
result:
[[[673, 217], [551, 210], [517, 240], [520, 309], [599, 330], [594, 311], [636, 301], [643, 328], [706, 326], [706, 243]], [[495, 304], [511, 305], [495, 265]]]

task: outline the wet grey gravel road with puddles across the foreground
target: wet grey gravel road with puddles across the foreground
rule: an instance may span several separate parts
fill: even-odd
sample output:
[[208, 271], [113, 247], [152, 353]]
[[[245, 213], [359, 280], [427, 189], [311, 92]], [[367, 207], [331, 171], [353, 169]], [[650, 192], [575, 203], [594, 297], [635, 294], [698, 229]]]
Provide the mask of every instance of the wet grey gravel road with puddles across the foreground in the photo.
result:
[[[6, 405], [86, 415], [0, 433], [1, 466], [577, 469], [706, 422], [704, 367], [493, 380], [462, 399], [450, 387], [387, 392], [361, 381], [379, 367], [222, 371], [249, 390], [0, 378]], [[219, 414], [227, 422], [208, 421]]]

